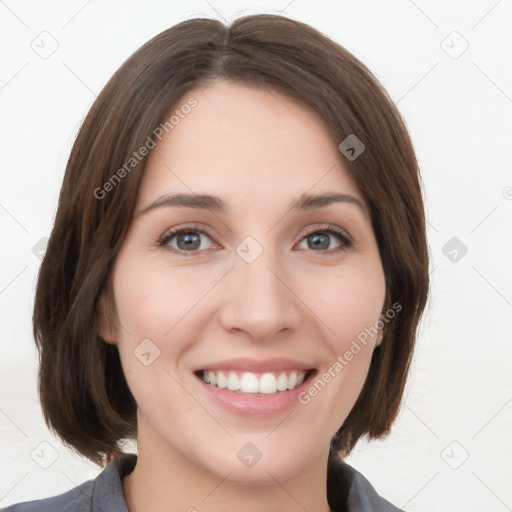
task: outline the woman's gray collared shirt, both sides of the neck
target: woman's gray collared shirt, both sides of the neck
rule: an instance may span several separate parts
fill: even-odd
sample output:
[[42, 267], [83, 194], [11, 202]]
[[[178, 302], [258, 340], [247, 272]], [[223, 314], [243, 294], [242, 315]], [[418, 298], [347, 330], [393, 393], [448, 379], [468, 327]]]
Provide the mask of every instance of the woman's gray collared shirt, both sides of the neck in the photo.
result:
[[[111, 461], [94, 479], [67, 492], [34, 501], [16, 503], [3, 512], [129, 512], [122, 479], [131, 473], [137, 455], [123, 454]], [[370, 482], [345, 462], [330, 466], [327, 497], [333, 512], [401, 512], [381, 498]], [[2, 512], [0, 510], [0, 512]]]

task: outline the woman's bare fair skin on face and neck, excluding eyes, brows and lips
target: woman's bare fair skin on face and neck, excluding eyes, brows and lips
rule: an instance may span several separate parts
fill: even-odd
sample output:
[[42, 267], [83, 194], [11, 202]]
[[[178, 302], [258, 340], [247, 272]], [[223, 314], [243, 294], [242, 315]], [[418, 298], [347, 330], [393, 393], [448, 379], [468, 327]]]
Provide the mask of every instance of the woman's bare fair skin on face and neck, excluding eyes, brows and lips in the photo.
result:
[[[379, 251], [367, 210], [345, 202], [300, 212], [290, 204], [331, 191], [365, 201], [307, 106], [226, 81], [190, 91], [178, 106], [190, 96], [198, 105], [150, 152], [110, 276], [114, 303], [102, 297], [116, 322], [104, 315], [100, 334], [117, 344], [138, 404], [126, 501], [131, 512], [328, 511], [329, 442], [361, 391], [378, 336], [307, 405], [270, 418], [220, 408], [192, 370], [231, 357], [293, 358], [318, 375], [332, 367], [382, 313]], [[176, 192], [219, 196], [228, 211], [163, 206], [139, 215]], [[315, 247], [307, 235], [326, 225], [353, 245], [331, 234], [330, 252]], [[173, 227], [211, 236], [200, 235], [187, 255], [177, 237], [159, 245]], [[252, 263], [236, 252], [247, 236], [263, 249]], [[148, 338], [160, 355], [145, 366], [133, 351]], [[237, 458], [247, 442], [262, 453], [250, 468]]]

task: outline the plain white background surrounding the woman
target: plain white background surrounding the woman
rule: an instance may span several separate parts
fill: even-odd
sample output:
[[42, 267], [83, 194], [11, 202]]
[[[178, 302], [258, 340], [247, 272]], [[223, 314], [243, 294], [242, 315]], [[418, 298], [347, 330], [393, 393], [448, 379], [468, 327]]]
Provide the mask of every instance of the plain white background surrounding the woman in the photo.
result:
[[[427, 317], [391, 435], [362, 441], [348, 462], [411, 512], [512, 510], [510, 0], [0, 1], [0, 506], [99, 472], [44, 425], [31, 335], [33, 247], [50, 233], [83, 116], [157, 33], [197, 16], [256, 12], [304, 21], [362, 60], [398, 104], [422, 169]], [[58, 44], [46, 59], [32, 48], [42, 37], [47, 49]], [[458, 55], [462, 38], [469, 47]], [[442, 251], [452, 237], [468, 249], [456, 262]], [[34, 450], [57, 459], [43, 469]]]

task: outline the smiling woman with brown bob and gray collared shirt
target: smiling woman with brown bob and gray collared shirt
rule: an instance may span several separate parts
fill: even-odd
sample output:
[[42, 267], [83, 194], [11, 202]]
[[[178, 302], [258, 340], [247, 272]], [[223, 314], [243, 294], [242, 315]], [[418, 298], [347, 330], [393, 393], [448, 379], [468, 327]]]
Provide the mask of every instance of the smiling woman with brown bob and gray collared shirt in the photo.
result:
[[46, 422], [107, 466], [5, 512], [398, 510], [343, 458], [389, 431], [427, 292], [370, 71], [282, 16], [166, 30], [80, 129], [36, 291]]

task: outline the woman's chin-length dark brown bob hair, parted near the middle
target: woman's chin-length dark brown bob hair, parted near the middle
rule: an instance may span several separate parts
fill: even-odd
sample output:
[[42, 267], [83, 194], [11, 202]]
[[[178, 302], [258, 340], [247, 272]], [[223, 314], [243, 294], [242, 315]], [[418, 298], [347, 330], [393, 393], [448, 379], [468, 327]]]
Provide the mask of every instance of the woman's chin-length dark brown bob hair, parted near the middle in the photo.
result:
[[[336, 145], [351, 134], [364, 143], [356, 159], [340, 158], [369, 206], [385, 274], [384, 311], [394, 303], [401, 310], [384, 327], [362, 391], [331, 440], [330, 458], [350, 453], [363, 435], [387, 434], [399, 410], [429, 287], [419, 169], [400, 113], [361, 62], [304, 23], [269, 14], [230, 26], [191, 19], [139, 48], [92, 105], [67, 163], [39, 270], [33, 330], [45, 422], [100, 466], [137, 435], [137, 404], [117, 346], [98, 334], [99, 299], [105, 294], [112, 303], [110, 270], [146, 156], [137, 153], [136, 165], [121, 169], [180, 98], [217, 79], [288, 94], [323, 119]], [[116, 172], [122, 179], [113, 183]]]

